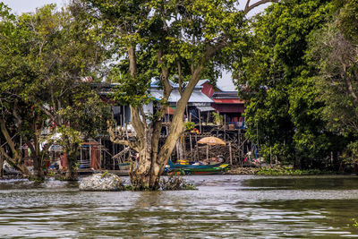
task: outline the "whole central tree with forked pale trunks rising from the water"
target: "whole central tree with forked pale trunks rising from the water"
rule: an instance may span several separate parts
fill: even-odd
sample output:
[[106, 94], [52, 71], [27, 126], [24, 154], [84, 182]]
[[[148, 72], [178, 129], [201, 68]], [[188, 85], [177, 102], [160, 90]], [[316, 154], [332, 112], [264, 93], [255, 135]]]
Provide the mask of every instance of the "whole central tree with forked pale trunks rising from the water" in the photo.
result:
[[[214, 78], [245, 47], [246, 14], [252, 8], [278, 1], [247, 1], [243, 11], [232, 0], [98, 1], [76, 0], [101, 34], [109, 37], [109, 47], [120, 56], [116, 78], [122, 87], [117, 99], [131, 106], [135, 140], [109, 128], [112, 141], [130, 146], [140, 160], [130, 173], [132, 185], [155, 189], [167, 160], [182, 134], [183, 112], [192, 90], [202, 75]], [[120, 77], [118, 77], [120, 75]], [[162, 118], [173, 90], [169, 79], [177, 76], [181, 98], [164, 145], [158, 149]], [[142, 105], [149, 100], [149, 85], [157, 78], [163, 90], [154, 115], [145, 115]]]

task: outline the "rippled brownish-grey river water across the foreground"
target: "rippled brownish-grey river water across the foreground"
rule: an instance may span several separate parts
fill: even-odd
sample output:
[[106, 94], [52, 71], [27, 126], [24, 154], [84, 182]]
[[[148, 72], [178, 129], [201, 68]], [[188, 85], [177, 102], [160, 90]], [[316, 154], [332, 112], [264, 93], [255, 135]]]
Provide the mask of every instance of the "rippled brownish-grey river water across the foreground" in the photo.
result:
[[[126, 178], [125, 180], [128, 180]], [[188, 176], [196, 191], [0, 181], [0, 238], [356, 237], [358, 176]]]

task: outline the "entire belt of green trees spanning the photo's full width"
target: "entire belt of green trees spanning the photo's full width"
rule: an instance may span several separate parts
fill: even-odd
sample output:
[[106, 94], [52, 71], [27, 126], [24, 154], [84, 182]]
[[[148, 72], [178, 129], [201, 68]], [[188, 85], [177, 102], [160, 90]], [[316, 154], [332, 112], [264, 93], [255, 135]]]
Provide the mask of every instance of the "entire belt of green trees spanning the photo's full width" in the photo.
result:
[[[81, 141], [112, 130], [108, 102], [93, 86], [116, 81], [114, 100], [131, 106], [137, 139], [112, 141], [141, 155], [132, 182], [156, 188], [193, 88], [203, 78], [215, 82], [225, 68], [246, 101], [246, 137], [264, 158], [304, 169], [355, 166], [357, 0], [247, 1], [241, 11], [235, 1], [182, 2], [73, 0], [62, 10], [49, 4], [19, 16], [0, 3], [1, 158], [43, 178], [43, 159], [56, 141], [69, 160], [66, 179], [73, 179]], [[247, 17], [267, 2], [263, 13]], [[151, 100], [153, 78], [164, 96], [158, 114], [147, 117], [141, 106]], [[169, 80], [182, 98], [158, 150]]]

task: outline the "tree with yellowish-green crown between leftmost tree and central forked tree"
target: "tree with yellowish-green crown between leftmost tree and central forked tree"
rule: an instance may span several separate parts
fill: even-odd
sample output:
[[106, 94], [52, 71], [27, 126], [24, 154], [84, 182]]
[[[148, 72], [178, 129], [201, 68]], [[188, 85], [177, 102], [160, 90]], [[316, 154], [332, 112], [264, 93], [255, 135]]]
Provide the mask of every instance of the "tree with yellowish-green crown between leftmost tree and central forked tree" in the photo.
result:
[[106, 124], [107, 107], [89, 81], [99, 76], [104, 48], [86, 34], [89, 21], [66, 9], [55, 11], [54, 4], [22, 14], [19, 27], [30, 31], [33, 46], [27, 60], [34, 75], [26, 100], [55, 125], [51, 133], [61, 135], [56, 141], [67, 156], [65, 179], [75, 179], [81, 140]]

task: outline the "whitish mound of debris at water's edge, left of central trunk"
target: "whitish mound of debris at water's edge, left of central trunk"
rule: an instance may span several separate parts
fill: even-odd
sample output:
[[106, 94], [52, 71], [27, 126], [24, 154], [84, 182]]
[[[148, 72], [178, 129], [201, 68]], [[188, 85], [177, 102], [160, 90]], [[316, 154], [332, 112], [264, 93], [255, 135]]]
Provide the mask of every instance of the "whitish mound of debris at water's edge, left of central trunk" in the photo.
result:
[[105, 172], [83, 178], [79, 188], [81, 191], [121, 191], [124, 185], [118, 175]]

